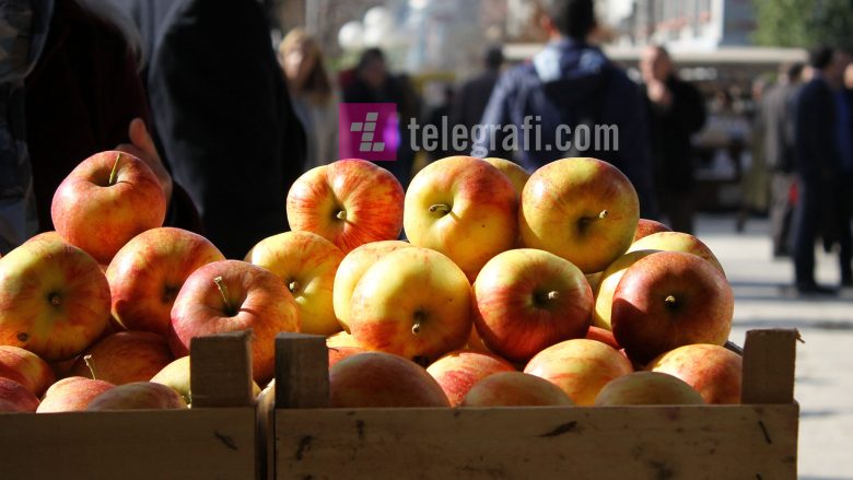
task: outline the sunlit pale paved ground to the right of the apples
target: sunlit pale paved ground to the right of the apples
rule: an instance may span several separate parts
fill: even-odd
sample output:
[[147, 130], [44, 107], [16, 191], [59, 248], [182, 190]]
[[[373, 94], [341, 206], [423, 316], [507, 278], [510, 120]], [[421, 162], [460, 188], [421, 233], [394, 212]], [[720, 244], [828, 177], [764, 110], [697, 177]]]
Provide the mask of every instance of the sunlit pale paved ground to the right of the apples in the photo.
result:
[[[698, 236], [720, 258], [735, 290], [732, 341], [747, 330], [799, 329], [795, 398], [801, 405], [799, 478], [853, 479], [853, 291], [838, 298], [799, 298], [782, 286], [793, 281], [790, 261], [773, 260], [764, 220], [735, 233], [733, 216], [702, 215]], [[837, 285], [838, 257], [818, 256], [818, 282]]]

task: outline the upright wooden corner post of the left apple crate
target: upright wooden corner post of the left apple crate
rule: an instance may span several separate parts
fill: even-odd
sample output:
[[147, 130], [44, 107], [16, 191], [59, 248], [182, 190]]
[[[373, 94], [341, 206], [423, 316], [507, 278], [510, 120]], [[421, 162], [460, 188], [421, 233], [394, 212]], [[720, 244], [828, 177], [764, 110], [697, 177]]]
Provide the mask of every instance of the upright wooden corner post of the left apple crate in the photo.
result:
[[189, 343], [192, 407], [244, 407], [252, 391], [252, 331], [196, 337]]

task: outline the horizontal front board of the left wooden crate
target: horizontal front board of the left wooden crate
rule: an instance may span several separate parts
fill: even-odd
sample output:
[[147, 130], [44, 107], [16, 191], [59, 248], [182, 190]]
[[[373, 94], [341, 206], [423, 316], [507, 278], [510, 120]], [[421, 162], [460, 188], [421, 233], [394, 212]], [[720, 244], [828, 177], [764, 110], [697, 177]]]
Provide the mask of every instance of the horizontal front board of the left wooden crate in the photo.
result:
[[0, 478], [252, 479], [255, 409], [0, 414]]

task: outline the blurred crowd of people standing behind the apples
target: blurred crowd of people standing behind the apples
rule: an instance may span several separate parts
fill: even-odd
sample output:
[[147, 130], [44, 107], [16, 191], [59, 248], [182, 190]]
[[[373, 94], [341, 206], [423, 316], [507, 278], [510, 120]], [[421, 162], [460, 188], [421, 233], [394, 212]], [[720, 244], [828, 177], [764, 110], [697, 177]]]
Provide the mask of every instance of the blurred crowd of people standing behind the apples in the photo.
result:
[[[484, 48], [481, 72], [441, 89], [424, 106], [414, 82], [384, 52], [362, 52], [339, 72], [301, 28], [273, 48], [254, 0], [9, 0], [0, 31], [0, 253], [52, 229], [50, 200], [83, 159], [119, 149], [145, 161], [170, 198], [167, 224], [203, 233], [230, 258], [285, 230], [293, 180], [339, 156], [346, 103], [394, 103], [400, 142], [384, 163], [405, 186], [424, 162], [453, 148], [417, 152], [405, 126], [616, 125], [618, 149], [545, 151], [482, 144], [533, 171], [564, 156], [596, 156], [633, 183], [642, 215], [692, 233], [697, 161], [734, 165], [738, 227], [767, 212], [773, 255], [791, 257], [796, 290], [815, 282], [815, 244], [839, 251], [841, 286], [853, 286], [853, 67], [831, 46], [808, 65], [757, 79], [748, 101], [701, 93], [681, 80], [664, 46], [645, 48], [641, 81], [587, 42], [592, 0], [540, 0], [549, 42], [506, 67]], [[229, 25], [224, 34], [223, 25]], [[746, 105], [746, 106], [745, 106]], [[728, 138], [714, 145], [714, 132]], [[548, 142], [546, 138], [545, 141]], [[710, 153], [709, 153], [710, 152]], [[721, 160], [722, 159], [722, 160]]]

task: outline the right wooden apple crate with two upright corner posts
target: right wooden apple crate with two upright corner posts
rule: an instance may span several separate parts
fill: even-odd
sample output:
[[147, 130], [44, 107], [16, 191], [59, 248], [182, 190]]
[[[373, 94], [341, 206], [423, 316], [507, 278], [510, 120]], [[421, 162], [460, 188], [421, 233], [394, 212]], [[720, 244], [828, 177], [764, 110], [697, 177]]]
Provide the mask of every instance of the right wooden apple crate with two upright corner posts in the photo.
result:
[[794, 480], [796, 339], [748, 332], [743, 405], [330, 409], [324, 339], [281, 335], [276, 391], [258, 408], [271, 429], [262, 475]]

